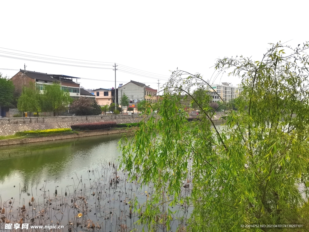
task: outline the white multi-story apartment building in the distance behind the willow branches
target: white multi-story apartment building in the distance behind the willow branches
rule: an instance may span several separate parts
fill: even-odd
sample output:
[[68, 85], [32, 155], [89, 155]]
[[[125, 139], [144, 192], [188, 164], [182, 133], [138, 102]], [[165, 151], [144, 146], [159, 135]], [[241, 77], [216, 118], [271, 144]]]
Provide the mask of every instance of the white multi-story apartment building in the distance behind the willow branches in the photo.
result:
[[222, 85], [214, 85], [212, 88], [214, 90], [210, 89], [210, 91], [217, 93], [213, 95], [213, 101], [221, 101], [220, 97], [222, 97], [223, 101], [229, 102], [242, 92], [242, 88], [235, 87], [229, 82], [222, 82]]

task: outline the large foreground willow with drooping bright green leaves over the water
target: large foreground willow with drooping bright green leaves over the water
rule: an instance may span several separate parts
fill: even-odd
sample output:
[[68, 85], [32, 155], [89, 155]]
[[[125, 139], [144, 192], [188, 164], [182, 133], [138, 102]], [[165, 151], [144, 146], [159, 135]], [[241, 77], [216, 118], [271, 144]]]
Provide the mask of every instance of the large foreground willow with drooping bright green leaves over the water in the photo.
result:
[[[216, 69], [240, 77], [243, 88], [238, 112], [231, 110], [220, 130], [209, 104], [200, 107], [197, 121], [178, 113], [181, 95], [211, 85], [201, 75], [172, 73], [158, 116], [142, 120], [132, 139], [121, 140], [120, 168], [153, 190], [145, 204], [132, 206], [139, 223], [148, 231], [155, 224], [169, 230], [176, 205], [193, 206], [187, 221], [179, 219], [189, 231], [299, 221], [302, 193], [309, 193], [308, 48], [277, 43], [260, 61], [219, 59]], [[191, 194], [184, 195], [188, 187]]]

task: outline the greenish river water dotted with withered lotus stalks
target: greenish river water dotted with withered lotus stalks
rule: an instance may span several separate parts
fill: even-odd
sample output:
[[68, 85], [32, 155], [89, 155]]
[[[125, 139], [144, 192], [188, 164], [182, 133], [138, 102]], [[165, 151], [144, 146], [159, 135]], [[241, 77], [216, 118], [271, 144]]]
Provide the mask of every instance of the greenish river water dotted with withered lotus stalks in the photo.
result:
[[[64, 226], [57, 231], [141, 230], [134, 224], [139, 215], [130, 212], [130, 200], [137, 196], [142, 204], [152, 189], [128, 182], [128, 175], [116, 170], [121, 136], [1, 147], [2, 221], [14, 224], [23, 218], [29, 225]], [[0, 231], [5, 223], [0, 223]], [[175, 220], [172, 229], [177, 225]]]

